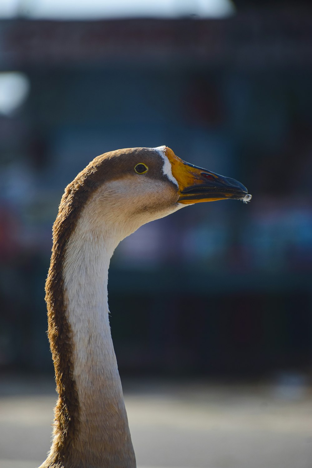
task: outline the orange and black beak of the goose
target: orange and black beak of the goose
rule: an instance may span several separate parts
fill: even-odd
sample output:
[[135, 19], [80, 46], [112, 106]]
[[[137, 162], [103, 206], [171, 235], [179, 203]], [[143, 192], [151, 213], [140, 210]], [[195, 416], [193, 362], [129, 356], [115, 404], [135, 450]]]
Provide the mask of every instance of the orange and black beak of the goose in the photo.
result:
[[212, 202], [227, 198], [247, 202], [251, 199], [247, 188], [237, 180], [182, 161], [167, 147], [166, 155], [171, 162], [172, 175], [179, 185], [179, 203]]

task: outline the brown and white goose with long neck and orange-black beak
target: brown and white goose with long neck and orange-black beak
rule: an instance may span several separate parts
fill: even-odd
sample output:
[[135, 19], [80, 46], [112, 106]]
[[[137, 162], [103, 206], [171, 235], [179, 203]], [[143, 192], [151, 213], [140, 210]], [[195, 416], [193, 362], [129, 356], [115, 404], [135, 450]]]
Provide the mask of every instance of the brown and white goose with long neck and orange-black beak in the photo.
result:
[[227, 198], [247, 202], [251, 195], [167, 146], [97, 156], [66, 187], [45, 286], [58, 401], [40, 468], [136, 467], [109, 327], [110, 258], [143, 224]]

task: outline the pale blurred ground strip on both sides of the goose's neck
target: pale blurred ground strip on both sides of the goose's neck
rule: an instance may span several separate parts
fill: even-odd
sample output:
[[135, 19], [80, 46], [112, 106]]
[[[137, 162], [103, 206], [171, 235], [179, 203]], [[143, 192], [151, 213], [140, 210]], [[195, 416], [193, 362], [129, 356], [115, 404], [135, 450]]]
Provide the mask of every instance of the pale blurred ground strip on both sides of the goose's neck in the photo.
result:
[[[312, 389], [123, 384], [138, 467], [311, 468]], [[54, 382], [2, 379], [0, 468], [35, 468], [50, 447]]]

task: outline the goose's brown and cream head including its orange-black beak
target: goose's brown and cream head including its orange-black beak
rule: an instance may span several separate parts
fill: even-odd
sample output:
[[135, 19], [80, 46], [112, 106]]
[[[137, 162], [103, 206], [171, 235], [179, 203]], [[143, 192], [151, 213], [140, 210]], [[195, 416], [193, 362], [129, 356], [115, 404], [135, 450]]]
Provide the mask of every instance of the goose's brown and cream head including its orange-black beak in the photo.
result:
[[97, 156], [72, 184], [93, 192], [87, 204], [91, 218], [114, 226], [120, 239], [187, 205], [251, 199], [237, 180], [182, 161], [166, 146]]

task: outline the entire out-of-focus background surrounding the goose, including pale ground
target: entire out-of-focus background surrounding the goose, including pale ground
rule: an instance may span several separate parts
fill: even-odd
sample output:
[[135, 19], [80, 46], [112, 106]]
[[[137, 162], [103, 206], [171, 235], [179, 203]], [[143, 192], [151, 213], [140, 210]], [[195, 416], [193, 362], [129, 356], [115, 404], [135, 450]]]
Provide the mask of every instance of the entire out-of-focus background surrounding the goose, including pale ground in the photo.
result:
[[50, 447], [44, 282], [67, 183], [171, 147], [244, 183], [141, 227], [111, 261], [140, 467], [312, 467], [312, 7], [2, 0], [0, 468]]

